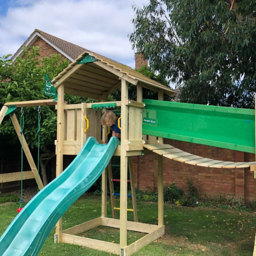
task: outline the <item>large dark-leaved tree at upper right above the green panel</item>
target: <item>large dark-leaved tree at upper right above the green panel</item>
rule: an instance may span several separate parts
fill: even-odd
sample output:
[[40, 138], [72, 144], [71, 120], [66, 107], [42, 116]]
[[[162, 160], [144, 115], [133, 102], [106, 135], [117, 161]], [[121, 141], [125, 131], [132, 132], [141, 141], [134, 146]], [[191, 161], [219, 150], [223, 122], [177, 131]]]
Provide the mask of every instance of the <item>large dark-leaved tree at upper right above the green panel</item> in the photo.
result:
[[133, 48], [183, 102], [254, 108], [255, 0], [150, 0], [134, 6]]

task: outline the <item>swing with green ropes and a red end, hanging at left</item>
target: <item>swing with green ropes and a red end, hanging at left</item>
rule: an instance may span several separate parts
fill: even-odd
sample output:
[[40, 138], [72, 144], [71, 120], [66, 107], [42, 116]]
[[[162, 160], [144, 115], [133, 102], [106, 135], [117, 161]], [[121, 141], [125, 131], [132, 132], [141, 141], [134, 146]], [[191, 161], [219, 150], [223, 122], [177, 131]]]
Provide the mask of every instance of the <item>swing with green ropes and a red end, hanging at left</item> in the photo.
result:
[[[37, 193], [39, 191], [39, 150], [40, 150], [40, 120], [41, 120], [41, 108], [40, 106], [38, 106], [38, 115], [37, 115], [37, 120], [38, 120], [38, 125], [37, 125], [37, 137], [38, 137], [38, 152], [37, 152]], [[23, 130], [24, 130], [24, 110], [23, 108], [21, 109], [20, 113], [22, 114], [20, 116], [20, 134], [22, 135], [22, 168], [21, 168], [21, 172], [22, 172], [22, 178], [21, 178], [21, 193], [20, 193], [20, 204], [19, 204], [19, 208], [17, 208], [17, 212], [20, 212], [23, 207]]]

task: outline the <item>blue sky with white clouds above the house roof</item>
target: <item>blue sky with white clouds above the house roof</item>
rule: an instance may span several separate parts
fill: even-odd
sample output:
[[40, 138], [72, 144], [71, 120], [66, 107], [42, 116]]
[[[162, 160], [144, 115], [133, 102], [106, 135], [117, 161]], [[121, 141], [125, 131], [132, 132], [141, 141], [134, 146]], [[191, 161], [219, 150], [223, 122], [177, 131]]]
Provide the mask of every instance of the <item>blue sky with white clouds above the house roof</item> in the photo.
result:
[[35, 30], [134, 68], [132, 5], [149, 0], [1, 0], [0, 56], [14, 54]]

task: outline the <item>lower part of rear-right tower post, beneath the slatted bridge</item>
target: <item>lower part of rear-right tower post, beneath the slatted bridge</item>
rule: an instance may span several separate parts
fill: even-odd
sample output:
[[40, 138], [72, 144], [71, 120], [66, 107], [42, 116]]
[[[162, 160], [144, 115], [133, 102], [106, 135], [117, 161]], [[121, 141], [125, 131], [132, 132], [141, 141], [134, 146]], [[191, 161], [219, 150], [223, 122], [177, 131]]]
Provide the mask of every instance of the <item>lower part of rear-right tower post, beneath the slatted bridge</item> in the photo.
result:
[[158, 155], [158, 226], [163, 226], [163, 156]]

